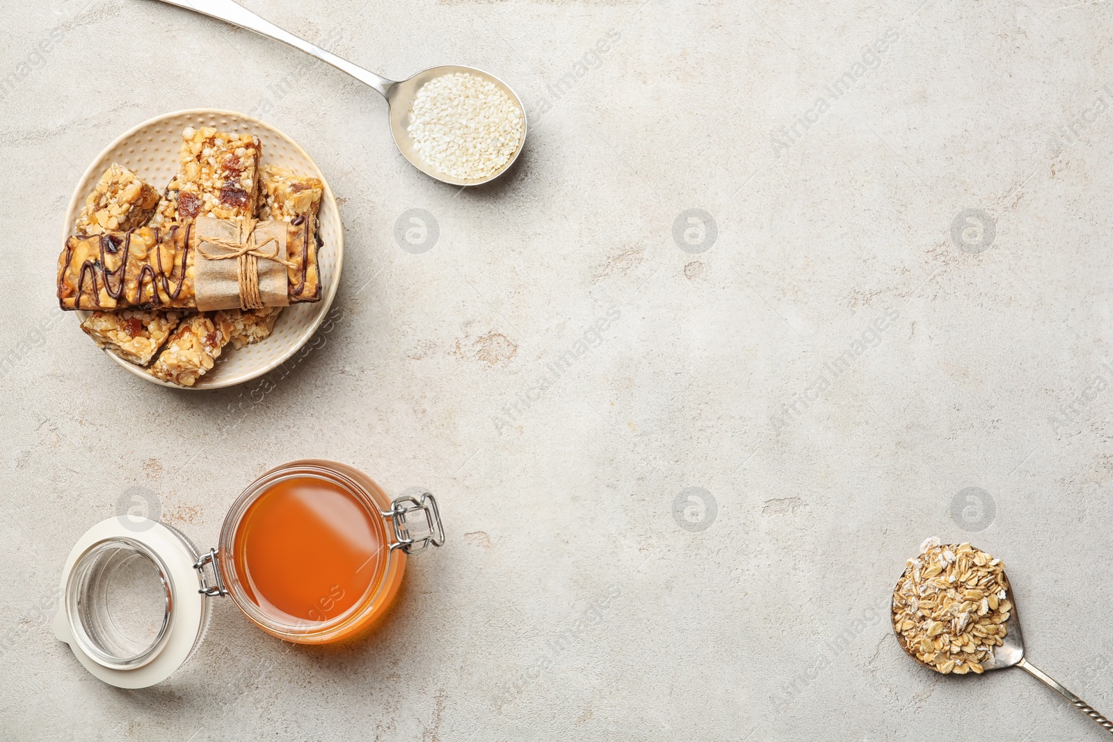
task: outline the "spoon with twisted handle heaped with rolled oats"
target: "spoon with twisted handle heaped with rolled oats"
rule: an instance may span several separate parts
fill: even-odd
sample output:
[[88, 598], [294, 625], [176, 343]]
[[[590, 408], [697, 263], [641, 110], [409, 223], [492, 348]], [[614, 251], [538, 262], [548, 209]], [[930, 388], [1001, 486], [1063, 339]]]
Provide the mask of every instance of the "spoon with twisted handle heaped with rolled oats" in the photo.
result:
[[1113, 733], [1113, 722], [1024, 656], [1024, 636], [1005, 565], [964, 544], [928, 538], [893, 591], [893, 631], [918, 664], [943, 674], [1022, 667]]

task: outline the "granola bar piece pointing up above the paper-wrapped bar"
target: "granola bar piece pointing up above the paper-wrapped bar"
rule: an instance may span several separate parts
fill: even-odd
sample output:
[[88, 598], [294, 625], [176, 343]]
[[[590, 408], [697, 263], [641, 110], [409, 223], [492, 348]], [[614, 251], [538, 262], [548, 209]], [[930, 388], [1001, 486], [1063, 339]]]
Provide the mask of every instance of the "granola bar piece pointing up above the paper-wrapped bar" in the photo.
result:
[[178, 220], [252, 216], [258, 198], [259, 151], [258, 137], [187, 127], [178, 156]]

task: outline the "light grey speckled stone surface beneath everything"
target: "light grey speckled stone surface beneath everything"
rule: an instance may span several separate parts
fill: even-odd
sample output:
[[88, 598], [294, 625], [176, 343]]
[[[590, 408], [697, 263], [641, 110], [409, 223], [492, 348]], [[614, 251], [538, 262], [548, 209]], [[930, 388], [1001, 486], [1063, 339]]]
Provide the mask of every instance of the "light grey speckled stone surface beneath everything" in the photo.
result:
[[[886, 605], [925, 536], [972, 540], [1030, 659], [1113, 713], [1109, 3], [247, 4], [386, 76], [499, 75], [526, 151], [461, 191], [282, 44], [8, 0], [0, 736], [1105, 739], [1021, 670], [916, 666]], [[318, 347], [205, 394], [122, 373], [52, 294], [81, 170], [194, 107], [297, 139], [347, 248]], [[144, 691], [55, 640], [87, 527], [149, 493], [208, 547], [307, 456], [440, 497], [374, 633], [293, 646], [218, 601]]]

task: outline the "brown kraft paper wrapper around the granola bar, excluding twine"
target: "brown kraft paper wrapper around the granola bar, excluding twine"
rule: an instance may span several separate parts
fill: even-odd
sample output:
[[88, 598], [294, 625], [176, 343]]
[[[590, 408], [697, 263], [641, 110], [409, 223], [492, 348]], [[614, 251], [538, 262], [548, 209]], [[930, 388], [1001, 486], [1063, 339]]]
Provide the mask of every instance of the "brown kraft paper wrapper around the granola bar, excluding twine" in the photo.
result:
[[[236, 270], [239, 261], [236, 258], [210, 260], [201, 255], [203, 249], [209, 255], [230, 253], [232, 250], [223, 245], [206, 241], [206, 237], [235, 240], [239, 235], [237, 222], [223, 221], [214, 217], [198, 217], [194, 229], [197, 230], [198, 248], [194, 258], [194, 293], [197, 297], [197, 310], [238, 309], [240, 306], [239, 278]], [[256, 245], [263, 245], [270, 237], [278, 240], [276, 257], [285, 260], [286, 222], [260, 221], [255, 226]], [[275, 244], [268, 243], [259, 249], [269, 254], [274, 248]], [[286, 266], [267, 258], [258, 258], [257, 263], [259, 267], [259, 296], [263, 298], [263, 306], [289, 306]]]

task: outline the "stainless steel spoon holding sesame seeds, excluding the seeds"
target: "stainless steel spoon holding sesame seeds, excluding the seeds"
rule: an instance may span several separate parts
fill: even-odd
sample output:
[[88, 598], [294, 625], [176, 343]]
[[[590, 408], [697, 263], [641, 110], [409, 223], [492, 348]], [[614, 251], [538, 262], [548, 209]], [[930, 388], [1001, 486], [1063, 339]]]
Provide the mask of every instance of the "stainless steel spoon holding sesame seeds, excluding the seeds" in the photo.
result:
[[[391, 135], [394, 137], [394, 144], [397, 145], [398, 151], [415, 168], [442, 182], [452, 184], [453, 186], [480, 186], [490, 182], [510, 169], [510, 166], [518, 159], [518, 156], [522, 151], [522, 146], [525, 144], [525, 109], [522, 107], [522, 101], [510, 89], [510, 86], [483, 70], [477, 70], [474, 67], [442, 65], [441, 67], [431, 67], [427, 70], [422, 70], [407, 80], [387, 80], [384, 77], [353, 65], [346, 59], [337, 57], [331, 51], [325, 51], [321, 47], [309, 43], [289, 31], [278, 28], [270, 21], [256, 16], [247, 8], [232, 0], [161, 0], [161, 2], [194, 10], [211, 18], [218, 18], [234, 26], [245, 28], [248, 31], [255, 31], [276, 41], [283, 41], [312, 57], [316, 57], [323, 62], [328, 62], [342, 72], [347, 72], [356, 80], [371, 86], [376, 92], [386, 98], [386, 103], [390, 107]], [[410, 126], [410, 105], [413, 102], [421, 87], [433, 78], [441, 77], [442, 75], [451, 75], [452, 72], [471, 72], [472, 75], [490, 80], [506, 93], [522, 116], [522, 137], [518, 142], [518, 149], [513, 156], [511, 156], [501, 170], [477, 180], [462, 180], [433, 169], [429, 162], [422, 159], [422, 156], [414, 148], [410, 132], [406, 131]]]

